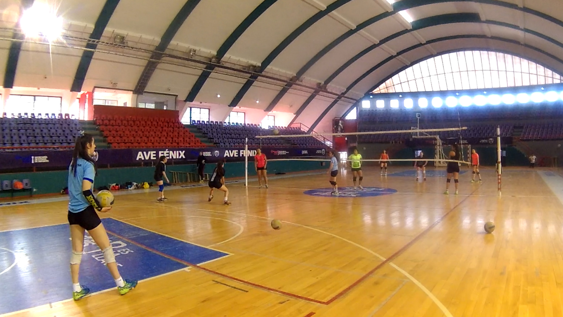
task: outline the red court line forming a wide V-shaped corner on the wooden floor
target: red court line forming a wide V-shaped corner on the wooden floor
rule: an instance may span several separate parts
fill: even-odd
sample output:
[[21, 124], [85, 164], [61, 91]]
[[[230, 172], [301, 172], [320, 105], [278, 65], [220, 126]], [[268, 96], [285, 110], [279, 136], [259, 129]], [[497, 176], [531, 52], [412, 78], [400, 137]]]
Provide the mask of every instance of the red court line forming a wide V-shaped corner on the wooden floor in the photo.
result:
[[[159, 254], [160, 256], [166, 257], [168, 259], [171, 259], [172, 261], [176, 261], [176, 262], [180, 262], [186, 266], [191, 266], [191, 267], [195, 267], [195, 268], [199, 268], [200, 270], [209, 272], [211, 274], [215, 274], [218, 276], [221, 276], [223, 278], [226, 279], [230, 279], [230, 280], [234, 280], [234, 281], [238, 281], [239, 283], [245, 284], [245, 285], [249, 285], [251, 287], [254, 288], [260, 288], [260, 289], [265, 289], [268, 290], [270, 292], [274, 292], [274, 293], [278, 293], [278, 294], [282, 294], [284, 296], [288, 296], [288, 297], [292, 297], [292, 298], [296, 298], [297, 300], [303, 300], [303, 301], [309, 301], [309, 302], [314, 302], [314, 303], [319, 303], [319, 304], [323, 304], [323, 305], [329, 305], [330, 303], [338, 300], [338, 298], [344, 296], [346, 293], [350, 292], [350, 290], [356, 286], [358, 286], [358, 284], [360, 284], [361, 282], [363, 282], [365, 279], [369, 278], [370, 275], [372, 275], [374, 272], [376, 272], [377, 270], [379, 270], [379, 268], [381, 268], [382, 266], [386, 265], [388, 262], [391, 262], [392, 260], [394, 260], [395, 258], [399, 257], [401, 254], [403, 254], [407, 249], [409, 249], [414, 243], [416, 243], [418, 240], [421, 239], [422, 236], [426, 235], [430, 230], [432, 230], [432, 228], [436, 227], [440, 222], [442, 222], [444, 220], [444, 218], [448, 217], [448, 215], [450, 213], [452, 213], [455, 208], [457, 208], [459, 205], [461, 205], [466, 199], [468, 199], [471, 195], [473, 195], [473, 193], [475, 193], [477, 190], [479, 190], [479, 187], [477, 187], [475, 190], [473, 190], [470, 195], [466, 196], [464, 199], [462, 199], [461, 201], [458, 202], [457, 205], [453, 206], [452, 209], [449, 210], [449, 212], [445, 213], [444, 215], [442, 215], [442, 217], [440, 217], [439, 219], [437, 219], [436, 222], [432, 223], [431, 226], [429, 226], [428, 228], [426, 228], [425, 230], [423, 230], [420, 234], [418, 234], [417, 236], [415, 236], [413, 238], [413, 240], [411, 240], [409, 243], [405, 244], [403, 246], [403, 248], [400, 248], [399, 250], [397, 250], [397, 252], [391, 254], [390, 257], [386, 258], [385, 261], [379, 263], [378, 266], [374, 267], [372, 270], [370, 270], [369, 272], [367, 272], [366, 274], [364, 274], [363, 276], [361, 276], [361, 278], [359, 278], [358, 280], [356, 280], [354, 283], [350, 284], [348, 287], [346, 287], [345, 289], [341, 290], [340, 293], [336, 294], [335, 296], [333, 296], [332, 298], [330, 298], [328, 301], [320, 301], [320, 300], [315, 300], [314, 298], [309, 298], [309, 297], [305, 297], [305, 296], [301, 296], [301, 295], [297, 295], [297, 294], [293, 294], [293, 293], [288, 293], [288, 292], [284, 292], [283, 290], [279, 290], [279, 289], [275, 289], [275, 288], [270, 288], [264, 285], [260, 285], [260, 284], [256, 284], [256, 283], [252, 283], [251, 281], [247, 281], [247, 280], [242, 280], [239, 278], [235, 278], [234, 276], [230, 276], [230, 275], [226, 275], [223, 274], [221, 272], [217, 272], [217, 271], [213, 271], [210, 270], [209, 268], [205, 268], [203, 266], [199, 266], [199, 265], [195, 265], [193, 263], [189, 263], [186, 261], [183, 261], [181, 259], [175, 258], [175, 257], [171, 257], [168, 254], [164, 254], [162, 252], [159, 252], [158, 250], [155, 250], [153, 248], [149, 248], [146, 245], [142, 245], [140, 243], [137, 243], [135, 241], [132, 241], [130, 239], [127, 239], [126, 237], [120, 236], [118, 234], [114, 234], [111, 231], [108, 231], [109, 234], [114, 235], [119, 237], [120, 239], [126, 240], [129, 243], [135, 244], [137, 246], [140, 246], [141, 248], [144, 248], [146, 250], [149, 250], [150, 252]], [[310, 312], [309, 315], [307, 316], [312, 316], [311, 314], [315, 314], [314, 312]], [[307, 317], [305, 316], [305, 317]]]

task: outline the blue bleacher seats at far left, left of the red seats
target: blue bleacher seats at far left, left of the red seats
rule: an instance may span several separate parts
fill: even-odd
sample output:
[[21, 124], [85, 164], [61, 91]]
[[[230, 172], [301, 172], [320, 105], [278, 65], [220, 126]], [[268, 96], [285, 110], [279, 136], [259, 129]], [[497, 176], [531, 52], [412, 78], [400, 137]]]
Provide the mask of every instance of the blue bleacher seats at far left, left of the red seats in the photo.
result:
[[34, 147], [70, 147], [80, 134], [78, 120], [62, 115], [50, 118], [16, 117], [0, 118], [0, 146], [2, 150], [19, 151]]

